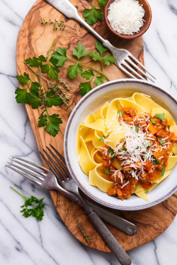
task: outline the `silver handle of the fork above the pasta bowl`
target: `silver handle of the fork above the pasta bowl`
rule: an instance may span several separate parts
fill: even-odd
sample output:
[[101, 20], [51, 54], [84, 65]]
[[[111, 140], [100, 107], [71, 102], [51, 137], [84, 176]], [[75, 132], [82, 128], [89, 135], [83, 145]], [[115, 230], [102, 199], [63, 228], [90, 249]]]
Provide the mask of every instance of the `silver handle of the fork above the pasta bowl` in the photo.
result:
[[86, 28], [91, 34], [93, 34], [97, 39], [99, 39], [103, 45], [111, 50], [114, 46], [107, 40], [104, 39], [100, 34], [98, 34], [89, 24], [84, 21], [77, 12], [77, 9], [73, 4], [68, 0], [46, 0], [47, 3], [55, 7], [58, 11], [60, 11], [63, 15], [68, 17], [69, 19], [74, 19], [79, 22], [84, 28]]

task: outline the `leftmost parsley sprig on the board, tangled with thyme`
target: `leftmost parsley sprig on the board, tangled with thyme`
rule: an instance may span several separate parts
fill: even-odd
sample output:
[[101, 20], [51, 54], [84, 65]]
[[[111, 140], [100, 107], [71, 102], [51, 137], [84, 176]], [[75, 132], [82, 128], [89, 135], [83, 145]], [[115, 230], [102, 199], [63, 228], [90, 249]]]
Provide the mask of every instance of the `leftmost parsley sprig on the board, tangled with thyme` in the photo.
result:
[[[53, 105], [61, 106], [63, 104], [67, 105], [71, 110], [72, 107], [68, 104], [70, 98], [64, 91], [64, 89], [70, 91], [71, 88], [68, 87], [64, 80], [58, 77], [60, 70], [55, 66], [58, 60], [52, 56], [50, 57], [54, 42], [55, 40], [47, 56], [34, 56], [25, 60], [24, 63], [33, 72], [33, 76], [30, 77], [26, 72], [23, 75], [17, 75], [19, 83], [26, 87], [24, 89], [18, 87], [15, 90], [15, 98], [17, 103], [30, 104], [33, 109], [40, 107], [42, 112], [40, 113], [38, 127], [45, 126], [45, 130], [55, 137], [60, 130], [62, 120], [58, 114], [53, 113], [50, 115], [48, 107]], [[37, 77], [38, 82], [34, 81], [34, 77]]]

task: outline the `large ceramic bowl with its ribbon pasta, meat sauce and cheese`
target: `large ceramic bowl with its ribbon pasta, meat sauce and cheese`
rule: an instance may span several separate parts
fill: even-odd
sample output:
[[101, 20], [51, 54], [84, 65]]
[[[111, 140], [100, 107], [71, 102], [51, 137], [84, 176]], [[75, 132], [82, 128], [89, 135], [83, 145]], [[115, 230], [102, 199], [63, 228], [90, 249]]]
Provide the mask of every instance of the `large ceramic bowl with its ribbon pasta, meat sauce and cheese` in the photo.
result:
[[[134, 210], [175, 192], [177, 126], [169, 104], [177, 105], [165, 91], [140, 80], [108, 82], [78, 103], [66, 126], [65, 159], [90, 198]], [[73, 142], [74, 159], [68, 149]]]

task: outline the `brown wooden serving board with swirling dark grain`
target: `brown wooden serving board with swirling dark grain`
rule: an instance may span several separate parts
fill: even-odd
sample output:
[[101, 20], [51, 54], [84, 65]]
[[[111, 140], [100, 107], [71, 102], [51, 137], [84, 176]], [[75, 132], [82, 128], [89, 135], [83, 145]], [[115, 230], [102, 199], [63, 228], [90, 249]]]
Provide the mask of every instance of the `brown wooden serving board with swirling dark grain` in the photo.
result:
[[[71, 0], [71, 2], [76, 6], [81, 17], [83, 9], [90, 8], [93, 4], [92, 2], [88, 2], [86, 0]], [[71, 32], [69, 30], [65, 30], [63, 32], [53, 31], [52, 27], [48, 24], [45, 25], [45, 27], [42, 26], [40, 23], [41, 19], [45, 19], [46, 21], [48, 19], [57, 19], [58, 21], [63, 20], [72, 27], [75, 27], [76, 32]], [[144, 64], [142, 37], [132, 40], [119, 39], [108, 31], [104, 21], [97, 22], [94, 25], [94, 28], [103, 37], [109, 39], [114, 46], [129, 50]], [[40, 54], [46, 55], [53, 42], [53, 39], [56, 39], [53, 49], [56, 49], [60, 46], [65, 47], [68, 50], [68, 54], [71, 56], [72, 49], [76, 46], [76, 44], [78, 44], [78, 42], [81, 42], [85, 46], [86, 50], [96, 51], [94, 47], [96, 39], [83, 27], [81, 27], [74, 20], [68, 20], [65, 16], [60, 14], [45, 1], [37, 0], [24, 19], [22, 27], [19, 31], [17, 39], [17, 73], [23, 74], [24, 71], [26, 71], [31, 76], [32, 73], [30, 73], [29, 69], [24, 64], [24, 59], [33, 56], [39, 56]], [[89, 62], [88, 58], [85, 58], [84, 60]], [[97, 65], [97, 67], [99, 67], [99, 63], [97, 62], [92, 62], [92, 65]], [[81, 98], [78, 91], [78, 85], [82, 81], [82, 78], [77, 77], [74, 80], [70, 80], [67, 75], [67, 66], [68, 64], [65, 64], [65, 66], [61, 68], [60, 77], [68, 82], [68, 85], [72, 87], [70, 97], [72, 105], [75, 105]], [[110, 67], [104, 66], [104, 70], [106, 71], [106, 75], [109, 76], [110, 80], [127, 78], [127, 76], [122, 73], [114, 64], [112, 64]], [[22, 88], [23, 86], [20, 85], [20, 87]], [[39, 128], [37, 126], [38, 117], [41, 110], [34, 110], [30, 105], [25, 105], [25, 107], [35, 135], [38, 149], [42, 150], [42, 148], [45, 148], [45, 145], [49, 145], [49, 143], [51, 143], [56, 149], [58, 149], [60, 153], [63, 153], [63, 135], [65, 125], [69, 117], [68, 109], [63, 106], [52, 107], [52, 109], [49, 108], [50, 114], [58, 113], [63, 120], [63, 124], [60, 125], [60, 132], [54, 138], [50, 136], [43, 127]], [[42, 163], [45, 167], [47, 167], [44, 161], [42, 161]], [[89, 221], [87, 214], [80, 206], [78, 206], [77, 203], [74, 203], [76, 215], [78, 220], [80, 222], [82, 221], [82, 225], [85, 226], [87, 233], [91, 237], [91, 241], [89, 243], [86, 242], [85, 238], [76, 226], [77, 223], [73, 214], [72, 202], [57, 191], [50, 191], [50, 194], [53, 203], [65, 225], [78, 240], [94, 249], [110, 252], [101, 236], [99, 236], [94, 226]], [[116, 228], [106, 224], [115, 238], [117, 238], [122, 247], [127, 251], [145, 244], [146, 242], [157, 237], [170, 225], [177, 211], [177, 193], [172, 195], [163, 203], [160, 203], [157, 206], [153, 206], [149, 209], [140, 211], [117, 211], [110, 209], [110, 211], [135, 223], [138, 228], [136, 235], [128, 236]]]

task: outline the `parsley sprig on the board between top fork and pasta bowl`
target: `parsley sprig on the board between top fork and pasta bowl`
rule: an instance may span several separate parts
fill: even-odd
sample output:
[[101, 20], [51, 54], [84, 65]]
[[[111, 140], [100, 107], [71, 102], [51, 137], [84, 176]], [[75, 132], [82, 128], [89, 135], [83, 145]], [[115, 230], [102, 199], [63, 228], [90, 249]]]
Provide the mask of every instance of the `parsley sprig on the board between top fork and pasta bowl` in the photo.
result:
[[[72, 51], [73, 55], [77, 59], [68, 57], [66, 55], [66, 48], [64, 47], [58, 47], [57, 50], [52, 53], [52, 57], [54, 59], [57, 59], [58, 61], [55, 64], [55, 66], [57, 67], [62, 67], [67, 60], [75, 62], [75, 64], [69, 65], [68, 67], [68, 75], [71, 79], [77, 77], [78, 74], [80, 74], [81, 77], [85, 78], [86, 80], [89, 80], [88, 82], [80, 83], [79, 85], [80, 94], [82, 96], [92, 89], [91, 81], [93, 79], [94, 84], [96, 86], [103, 84], [105, 79], [110, 81], [106, 74], [103, 72], [103, 64], [110, 65], [110, 63], [116, 61], [116, 59], [110, 54], [106, 54], [105, 56], [103, 56], [103, 54], [108, 49], [106, 49], [101, 42], [96, 42], [95, 47], [97, 49], [97, 52], [88, 52], [85, 50], [85, 47], [81, 43], [79, 43], [78, 45], [76, 45], [76, 49], [73, 49]], [[81, 61], [82, 57], [86, 57], [88, 55], [92, 58], [92, 60], [100, 62], [101, 71]], [[83, 71], [83, 66], [88, 67], [90, 69]]]

